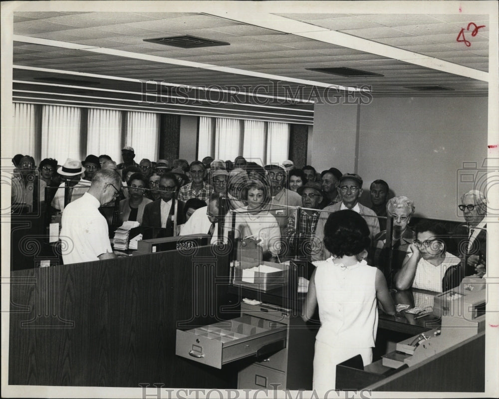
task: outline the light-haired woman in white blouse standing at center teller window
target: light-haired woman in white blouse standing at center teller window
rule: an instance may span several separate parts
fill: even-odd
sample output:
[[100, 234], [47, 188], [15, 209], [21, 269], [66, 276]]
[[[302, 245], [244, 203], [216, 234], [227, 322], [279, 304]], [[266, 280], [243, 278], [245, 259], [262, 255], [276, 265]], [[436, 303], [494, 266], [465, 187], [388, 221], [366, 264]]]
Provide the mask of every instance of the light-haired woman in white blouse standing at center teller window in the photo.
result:
[[270, 187], [261, 181], [249, 180], [244, 188], [248, 205], [227, 214], [224, 234], [227, 237], [232, 229], [233, 215], [236, 214], [235, 237], [254, 239], [262, 249], [263, 260], [273, 260], [281, 251], [281, 235], [274, 216], [265, 209], [271, 196]]

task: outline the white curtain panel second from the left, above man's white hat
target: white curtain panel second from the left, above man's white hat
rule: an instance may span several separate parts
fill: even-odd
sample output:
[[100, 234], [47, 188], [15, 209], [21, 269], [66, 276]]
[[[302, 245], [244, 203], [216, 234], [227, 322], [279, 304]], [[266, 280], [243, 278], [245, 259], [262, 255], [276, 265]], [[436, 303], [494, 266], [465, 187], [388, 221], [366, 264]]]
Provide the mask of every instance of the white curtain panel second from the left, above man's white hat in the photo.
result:
[[80, 159], [81, 111], [75, 107], [45, 105], [41, 113], [41, 157], [56, 158], [62, 165], [67, 158]]

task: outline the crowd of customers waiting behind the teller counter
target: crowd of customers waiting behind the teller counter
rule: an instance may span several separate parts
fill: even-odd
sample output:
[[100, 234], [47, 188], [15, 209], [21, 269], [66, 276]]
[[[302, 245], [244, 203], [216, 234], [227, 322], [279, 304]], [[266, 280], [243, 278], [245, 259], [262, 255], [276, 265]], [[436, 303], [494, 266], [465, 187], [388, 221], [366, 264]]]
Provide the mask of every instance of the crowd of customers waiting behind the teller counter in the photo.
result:
[[122, 158], [117, 163], [106, 154], [89, 154], [83, 161], [68, 158], [62, 165], [45, 158], [36, 168], [31, 156], [17, 154], [12, 158], [12, 208], [20, 204], [32, 210], [36, 182], [37, 200], [50, 204], [46, 212], [62, 213], [65, 204], [88, 190], [99, 169], [110, 168], [118, 171], [123, 186], [120, 197], [106, 205], [119, 209], [120, 223], [137, 221], [144, 238], [199, 233], [216, 237], [220, 230], [223, 240], [235, 220], [236, 237], [254, 240], [264, 259], [312, 262], [330, 257], [323, 245], [329, 215], [351, 209], [367, 222], [367, 260], [381, 269], [389, 286], [442, 290], [455, 286], [463, 275], [486, 271], [487, 199], [478, 190], [461, 198], [465, 223], [453, 232], [435, 222], [413, 229], [411, 199], [390, 198], [388, 183], [377, 179], [369, 186], [367, 207], [360, 203], [362, 177], [335, 167], [318, 172], [311, 165], [297, 168], [292, 160], [260, 165], [243, 156], [234, 161], [207, 156], [190, 163], [143, 158], [137, 164], [130, 146], [123, 147]]

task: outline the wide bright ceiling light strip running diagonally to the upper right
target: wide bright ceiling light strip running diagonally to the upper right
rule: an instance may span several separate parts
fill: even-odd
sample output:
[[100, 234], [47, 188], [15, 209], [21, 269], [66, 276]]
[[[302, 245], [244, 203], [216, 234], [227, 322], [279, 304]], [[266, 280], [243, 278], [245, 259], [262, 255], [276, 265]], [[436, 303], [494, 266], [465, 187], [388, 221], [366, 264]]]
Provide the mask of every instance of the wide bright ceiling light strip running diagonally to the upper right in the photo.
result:
[[352, 36], [347, 33], [329, 30], [326, 28], [319, 28], [318, 26], [310, 23], [297, 21], [295, 19], [286, 18], [269, 12], [257, 12], [254, 10], [252, 3], [248, 4], [244, 1], [240, 1], [239, 3], [241, 4], [238, 4], [237, 10], [223, 10], [220, 11], [220, 13], [211, 12], [209, 15], [230, 19], [235, 22], [255, 25], [262, 28], [278, 29], [282, 32], [318, 40], [323, 43], [335, 44], [337, 46], [351, 48], [369, 54], [381, 55], [383, 57], [454, 75], [483, 80], [485, 82], [489, 81], [488, 72], [454, 64], [452, 62], [429, 57], [427, 55], [414, 53], [412, 51], [403, 50], [398, 47], [389, 46], [387, 44], [378, 43], [372, 40], [363, 39], [361, 37]]

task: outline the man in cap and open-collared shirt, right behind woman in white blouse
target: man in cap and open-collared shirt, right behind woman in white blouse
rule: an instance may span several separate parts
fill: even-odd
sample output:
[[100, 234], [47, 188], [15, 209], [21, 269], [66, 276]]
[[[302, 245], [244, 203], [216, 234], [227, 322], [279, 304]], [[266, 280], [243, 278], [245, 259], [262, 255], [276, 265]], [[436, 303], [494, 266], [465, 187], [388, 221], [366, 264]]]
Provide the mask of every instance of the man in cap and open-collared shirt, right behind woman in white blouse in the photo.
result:
[[284, 236], [287, 218], [291, 213], [294, 213], [294, 209], [287, 208], [301, 206], [301, 196], [298, 193], [284, 187], [287, 181], [286, 170], [284, 167], [277, 165], [265, 165], [264, 169], [267, 171], [267, 177], [270, 180], [272, 189], [272, 199], [268, 210], [275, 217], [275, 220], [281, 230], [281, 235]]

